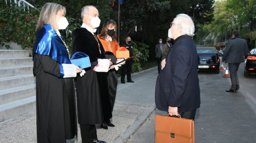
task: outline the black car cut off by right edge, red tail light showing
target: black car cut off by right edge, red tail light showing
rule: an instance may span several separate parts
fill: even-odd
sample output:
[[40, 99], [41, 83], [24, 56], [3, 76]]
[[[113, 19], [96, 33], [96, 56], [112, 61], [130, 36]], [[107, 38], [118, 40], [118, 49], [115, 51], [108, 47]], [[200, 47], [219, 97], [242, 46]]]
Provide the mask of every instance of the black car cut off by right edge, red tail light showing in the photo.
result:
[[256, 49], [252, 49], [245, 58], [244, 75], [248, 77], [250, 73], [256, 73]]

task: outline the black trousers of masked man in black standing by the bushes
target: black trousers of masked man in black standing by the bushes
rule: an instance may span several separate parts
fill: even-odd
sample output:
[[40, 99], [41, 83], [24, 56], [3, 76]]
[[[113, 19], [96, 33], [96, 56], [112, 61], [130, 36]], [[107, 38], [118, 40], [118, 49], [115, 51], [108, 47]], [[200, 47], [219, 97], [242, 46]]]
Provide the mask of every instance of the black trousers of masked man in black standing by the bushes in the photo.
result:
[[131, 81], [132, 59], [122, 65], [121, 82], [124, 82], [125, 74], [127, 74], [127, 81]]

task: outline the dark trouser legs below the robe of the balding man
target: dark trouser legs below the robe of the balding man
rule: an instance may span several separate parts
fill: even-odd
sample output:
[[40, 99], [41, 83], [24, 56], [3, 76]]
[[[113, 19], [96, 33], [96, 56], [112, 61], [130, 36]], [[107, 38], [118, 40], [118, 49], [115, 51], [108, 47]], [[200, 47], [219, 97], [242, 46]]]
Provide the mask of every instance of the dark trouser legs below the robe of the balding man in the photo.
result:
[[97, 139], [97, 131], [95, 125], [81, 125], [82, 143], [93, 143], [93, 139]]

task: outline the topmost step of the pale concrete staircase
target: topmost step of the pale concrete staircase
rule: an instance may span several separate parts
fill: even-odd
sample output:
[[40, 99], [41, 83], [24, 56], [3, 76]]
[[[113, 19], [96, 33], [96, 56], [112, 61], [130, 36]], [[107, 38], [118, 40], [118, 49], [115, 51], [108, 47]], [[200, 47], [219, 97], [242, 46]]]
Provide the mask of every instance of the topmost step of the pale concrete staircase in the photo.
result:
[[29, 51], [27, 50], [0, 50], [1, 58], [18, 58], [18, 57], [29, 57]]

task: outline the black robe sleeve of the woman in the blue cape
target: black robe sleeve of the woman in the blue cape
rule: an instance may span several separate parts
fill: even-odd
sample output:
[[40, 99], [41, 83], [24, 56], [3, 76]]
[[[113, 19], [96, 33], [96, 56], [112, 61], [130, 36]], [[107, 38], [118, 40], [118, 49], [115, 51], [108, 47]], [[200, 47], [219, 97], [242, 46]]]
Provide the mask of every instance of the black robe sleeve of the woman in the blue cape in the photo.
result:
[[[57, 77], [60, 76], [60, 64], [59, 62], [53, 60], [51, 57], [46, 55], [35, 54], [34, 60], [35, 60], [34, 63], [36, 63], [37, 60], [41, 63], [41, 65], [38, 65], [38, 66], [41, 66], [44, 72]], [[40, 67], [36, 67], [36, 65], [34, 64], [34, 68], [33, 68], [34, 76], [37, 76], [38, 74], [40, 75], [40, 72], [37, 71], [38, 69], [40, 69]]]

